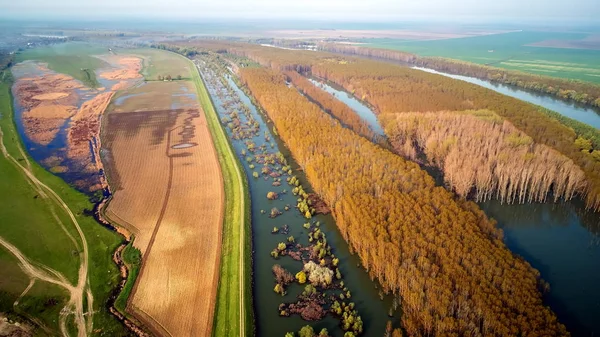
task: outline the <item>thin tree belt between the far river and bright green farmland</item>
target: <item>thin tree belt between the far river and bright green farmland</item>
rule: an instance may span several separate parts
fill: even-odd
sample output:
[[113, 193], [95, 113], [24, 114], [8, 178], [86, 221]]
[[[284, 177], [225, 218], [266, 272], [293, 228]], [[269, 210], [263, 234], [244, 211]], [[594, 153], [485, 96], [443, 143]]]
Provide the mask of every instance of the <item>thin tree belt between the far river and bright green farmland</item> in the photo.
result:
[[378, 48], [322, 43], [319, 44], [319, 49], [348, 55], [406, 62], [411, 65], [432, 68], [442, 72], [514, 85], [527, 90], [558, 96], [562, 99], [600, 107], [600, 86], [589, 82], [528, 74], [517, 70], [506, 70], [442, 57], [420, 57], [402, 51]]

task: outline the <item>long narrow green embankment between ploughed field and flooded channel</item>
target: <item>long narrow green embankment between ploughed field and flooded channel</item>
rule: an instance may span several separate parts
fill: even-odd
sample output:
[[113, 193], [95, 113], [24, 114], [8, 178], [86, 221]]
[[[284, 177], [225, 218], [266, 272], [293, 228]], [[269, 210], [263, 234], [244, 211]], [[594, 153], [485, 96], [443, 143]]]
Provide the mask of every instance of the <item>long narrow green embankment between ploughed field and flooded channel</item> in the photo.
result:
[[250, 286], [252, 281], [252, 228], [248, 182], [229, 138], [219, 122], [219, 117], [202, 78], [195, 65], [191, 61], [188, 62], [194, 67], [193, 80], [217, 148], [225, 183], [221, 273], [213, 336], [252, 335], [254, 331], [252, 288]]

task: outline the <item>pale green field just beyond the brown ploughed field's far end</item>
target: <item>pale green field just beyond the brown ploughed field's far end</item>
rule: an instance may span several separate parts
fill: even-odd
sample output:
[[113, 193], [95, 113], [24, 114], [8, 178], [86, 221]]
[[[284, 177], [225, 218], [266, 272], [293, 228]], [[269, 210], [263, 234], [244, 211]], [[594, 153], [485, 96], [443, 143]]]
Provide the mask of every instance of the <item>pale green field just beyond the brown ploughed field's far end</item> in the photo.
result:
[[171, 75], [173, 79], [176, 79], [178, 75], [181, 75], [182, 79], [192, 79], [192, 72], [187, 60], [173, 57], [165, 51], [157, 49], [133, 49], [121, 50], [120, 52], [143, 58], [144, 67], [142, 68], [142, 75], [144, 75], [147, 81], [156, 81], [158, 80], [158, 76], [166, 77], [167, 75]]

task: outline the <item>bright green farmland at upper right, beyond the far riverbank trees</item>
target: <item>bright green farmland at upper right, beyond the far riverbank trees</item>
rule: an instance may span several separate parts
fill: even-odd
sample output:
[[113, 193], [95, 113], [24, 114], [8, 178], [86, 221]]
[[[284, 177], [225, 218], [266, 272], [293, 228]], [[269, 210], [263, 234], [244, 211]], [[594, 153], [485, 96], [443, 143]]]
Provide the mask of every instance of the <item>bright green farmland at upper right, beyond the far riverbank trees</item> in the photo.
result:
[[600, 83], [600, 50], [527, 46], [544, 40], [577, 40], [584, 37], [586, 34], [580, 33], [515, 32], [436, 41], [368, 39], [362, 42], [366, 42], [364, 46], [368, 47]]

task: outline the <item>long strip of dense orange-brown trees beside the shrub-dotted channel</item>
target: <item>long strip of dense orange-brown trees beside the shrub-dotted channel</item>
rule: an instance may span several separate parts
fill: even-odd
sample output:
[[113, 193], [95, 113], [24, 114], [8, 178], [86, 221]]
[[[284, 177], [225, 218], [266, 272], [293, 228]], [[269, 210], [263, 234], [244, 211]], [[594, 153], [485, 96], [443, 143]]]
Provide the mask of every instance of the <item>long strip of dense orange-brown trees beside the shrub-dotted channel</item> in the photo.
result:
[[240, 70], [369, 274], [402, 300], [411, 336], [564, 336], [539, 273], [477, 205], [345, 128], [275, 70]]

